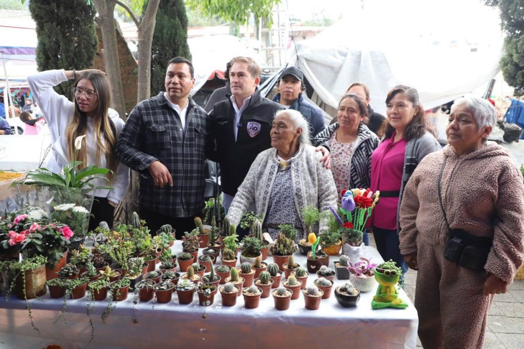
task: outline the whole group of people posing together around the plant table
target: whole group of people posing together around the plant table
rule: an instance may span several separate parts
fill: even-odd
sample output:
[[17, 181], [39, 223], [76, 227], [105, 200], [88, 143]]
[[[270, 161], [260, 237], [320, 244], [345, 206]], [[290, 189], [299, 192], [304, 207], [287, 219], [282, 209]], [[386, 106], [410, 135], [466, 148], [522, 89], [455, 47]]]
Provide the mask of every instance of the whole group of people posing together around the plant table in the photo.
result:
[[[138, 103], [125, 124], [108, 110], [109, 83], [100, 71], [53, 70], [28, 81], [35, 102], [46, 106], [53, 142], [48, 168], [59, 171], [75, 158], [113, 170], [113, 189], [95, 195], [90, 228], [112, 225], [128, 168], [140, 176], [141, 218], [152, 233], [171, 224], [177, 238], [201, 215], [206, 160], [220, 165], [230, 221], [255, 212], [272, 236], [283, 223], [303, 232], [301, 209], [335, 207], [344, 189], [380, 191], [367, 230], [385, 260], [402, 272], [418, 270], [422, 344], [481, 347], [490, 303], [506, 292], [524, 260], [524, 184], [508, 152], [486, 142], [496, 123], [493, 105], [456, 101], [442, 149], [412, 86], [389, 91], [383, 116], [370, 106], [366, 84], [355, 82], [326, 127], [323, 112], [304, 94], [299, 69], [281, 72], [273, 100], [260, 94], [260, 74], [253, 59], [233, 58], [226, 86], [204, 109], [189, 96], [192, 62], [173, 58], [165, 91]], [[75, 80], [73, 102], [52, 89], [69, 79]], [[23, 112], [31, 103], [26, 100]], [[20, 117], [28, 125], [35, 120]], [[84, 134], [77, 154], [73, 141]], [[450, 261], [450, 248], [459, 259]]]

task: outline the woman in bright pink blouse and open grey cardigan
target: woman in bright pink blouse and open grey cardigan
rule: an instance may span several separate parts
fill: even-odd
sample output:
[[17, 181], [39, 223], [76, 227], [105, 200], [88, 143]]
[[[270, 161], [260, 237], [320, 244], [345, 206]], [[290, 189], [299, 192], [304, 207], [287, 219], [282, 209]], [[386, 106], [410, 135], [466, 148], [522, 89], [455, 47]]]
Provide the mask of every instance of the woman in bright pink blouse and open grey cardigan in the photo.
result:
[[371, 157], [371, 190], [380, 200], [369, 221], [378, 252], [408, 270], [400, 254], [398, 210], [402, 192], [411, 173], [429, 153], [441, 149], [420, 104], [417, 90], [398, 85], [386, 97], [386, 122], [379, 134], [382, 142]]

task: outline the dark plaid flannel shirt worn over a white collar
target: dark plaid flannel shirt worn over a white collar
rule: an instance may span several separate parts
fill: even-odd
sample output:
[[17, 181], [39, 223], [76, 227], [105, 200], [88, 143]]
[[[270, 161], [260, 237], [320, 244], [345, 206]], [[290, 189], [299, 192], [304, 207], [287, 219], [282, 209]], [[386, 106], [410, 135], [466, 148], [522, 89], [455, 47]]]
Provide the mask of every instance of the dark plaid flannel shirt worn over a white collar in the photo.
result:
[[[140, 173], [139, 204], [173, 217], [202, 211], [205, 148], [211, 146], [209, 116], [191, 98], [185, 120], [184, 132], [178, 113], [160, 92], [135, 106], [115, 149], [122, 163]], [[155, 186], [148, 166], [156, 160], [168, 168], [173, 187]]]

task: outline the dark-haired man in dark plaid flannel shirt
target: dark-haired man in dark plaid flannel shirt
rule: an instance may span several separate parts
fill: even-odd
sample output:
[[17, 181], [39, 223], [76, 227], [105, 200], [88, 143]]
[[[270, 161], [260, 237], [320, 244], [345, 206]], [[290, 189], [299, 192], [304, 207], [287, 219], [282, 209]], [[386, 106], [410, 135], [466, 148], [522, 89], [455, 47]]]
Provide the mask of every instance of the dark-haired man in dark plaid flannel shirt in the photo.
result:
[[135, 106], [116, 145], [119, 161], [140, 173], [140, 217], [152, 234], [171, 224], [180, 238], [202, 213], [210, 122], [189, 97], [194, 83], [192, 63], [171, 59], [166, 92]]

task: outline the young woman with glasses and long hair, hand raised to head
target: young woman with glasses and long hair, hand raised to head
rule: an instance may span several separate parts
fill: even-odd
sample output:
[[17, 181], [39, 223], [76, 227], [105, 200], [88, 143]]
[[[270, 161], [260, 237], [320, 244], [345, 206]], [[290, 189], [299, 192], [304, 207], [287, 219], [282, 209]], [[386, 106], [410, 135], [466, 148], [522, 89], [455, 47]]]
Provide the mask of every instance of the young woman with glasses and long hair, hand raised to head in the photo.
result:
[[[58, 94], [53, 86], [74, 79], [72, 102]], [[27, 77], [31, 91], [49, 125], [53, 154], [47, 168], [60, 172], [69, 161], [82, 161], [83, 166], [110, 169], [109, 182], [103, 178], [93, 181], [95, 186], [112, 187], [97, 189], [91, 209], [89, 231], [101, 221], [113, 225], [115, 205], [124, 196], [129, 184], [129, 169], [114, 156], [117, 138], [124, 127], [118, 113], [109, 109], [111, 87], [100, 70], [48, 70]], [[82, 139], [82, 147], [75, 152], [74, 140]]]

